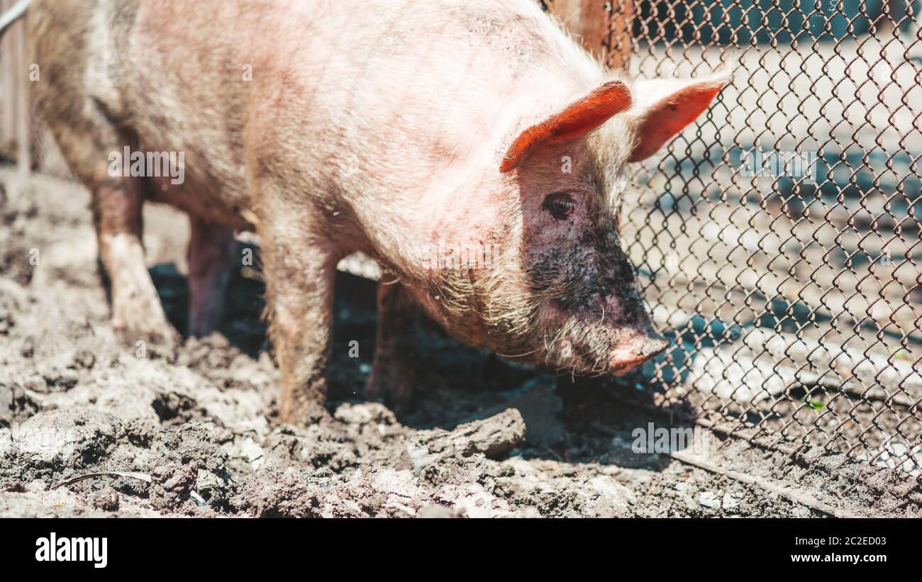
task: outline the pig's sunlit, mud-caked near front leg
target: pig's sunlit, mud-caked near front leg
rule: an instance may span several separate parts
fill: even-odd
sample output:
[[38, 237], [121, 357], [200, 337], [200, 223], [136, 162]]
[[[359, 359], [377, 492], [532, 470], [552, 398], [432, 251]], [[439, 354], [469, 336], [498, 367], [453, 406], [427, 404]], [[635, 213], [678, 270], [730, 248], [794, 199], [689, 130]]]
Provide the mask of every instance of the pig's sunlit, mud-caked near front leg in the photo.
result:
[[[278, 200], [278, 197], [276, 197]], [[303, 208], [265, 204], [260, 216], [266, 317], [281, 371], [279, 420], [310, 425], [326, 413], [337, 254]]]

